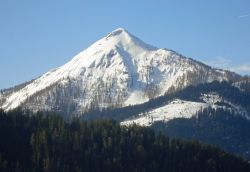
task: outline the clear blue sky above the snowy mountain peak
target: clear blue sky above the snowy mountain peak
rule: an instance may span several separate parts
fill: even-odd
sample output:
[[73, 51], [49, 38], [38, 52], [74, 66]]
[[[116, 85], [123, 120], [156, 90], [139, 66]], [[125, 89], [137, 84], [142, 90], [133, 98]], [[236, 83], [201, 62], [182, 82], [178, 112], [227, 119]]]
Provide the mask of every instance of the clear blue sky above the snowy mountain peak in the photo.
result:
[[118, 27], [250, 74], [249, 0], [1, 0], [0, 89], [66, 63]]

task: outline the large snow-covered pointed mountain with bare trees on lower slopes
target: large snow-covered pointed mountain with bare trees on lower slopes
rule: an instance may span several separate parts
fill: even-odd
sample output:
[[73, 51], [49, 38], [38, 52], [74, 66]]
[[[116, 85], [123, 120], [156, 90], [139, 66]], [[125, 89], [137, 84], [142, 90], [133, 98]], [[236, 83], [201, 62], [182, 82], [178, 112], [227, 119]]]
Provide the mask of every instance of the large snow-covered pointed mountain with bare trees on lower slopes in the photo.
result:
[[95, 108], [140, 104], [189, 85], [239, 77], [148, 45], [119, 28], [65, 65], [16, 89], [2, 91], [0, 108], [76, 115]]

